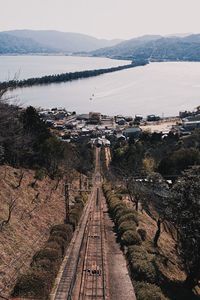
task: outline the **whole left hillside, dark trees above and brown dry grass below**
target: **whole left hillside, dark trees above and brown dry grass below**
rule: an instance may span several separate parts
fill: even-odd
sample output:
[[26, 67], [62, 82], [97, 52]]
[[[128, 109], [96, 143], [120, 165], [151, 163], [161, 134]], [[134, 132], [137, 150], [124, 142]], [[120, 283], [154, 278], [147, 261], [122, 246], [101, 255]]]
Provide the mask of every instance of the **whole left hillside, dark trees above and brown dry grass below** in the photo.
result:
[[[33, 107], [20, 109], [10, 105], [2, 100], [4, 92], [0, 94], [0, 288], [1, 294], [7, 296], [17, 275], [25, 274], [33, 251], [43, 247], [49, 228], [64, 223], [64, 186], [70, 184], [73, 189], [75, 185], [77, 190], [77, 170], [90, 174], [94, 158], [87, 143], [61, 142]], [[70, 194], [76, 195], [71, 190]], [[77, 199], [77, 207], [81, 203]], [[82, 208], [71, 210], [72, 228], [77, 225], [81, 211]], [[62, 237], [64, 234], [52, 233], [48, 247], [59, 244], [60, 248], [55, 247], [63, 253], [67, 244], [62, 244]], [[55, 276], [57, 267], [47, 265]], [[44, 261], [42, 266], [48, 268]], [[51, 283], [53, 277], [49, 276]], [[45, 286], [44, 293], [49, 287]]]

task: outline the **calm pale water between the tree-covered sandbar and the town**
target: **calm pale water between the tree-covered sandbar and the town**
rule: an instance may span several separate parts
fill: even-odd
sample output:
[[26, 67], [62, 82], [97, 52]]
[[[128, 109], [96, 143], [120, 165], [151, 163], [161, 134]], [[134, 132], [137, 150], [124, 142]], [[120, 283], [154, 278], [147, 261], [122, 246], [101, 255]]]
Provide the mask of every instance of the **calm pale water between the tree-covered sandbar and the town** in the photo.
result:
[[177, 115], [200, 105], [200, 63], [152, 63], [70, 83], [19, 89], [15, 95], [24, 105], [65, 107], [79, 113]]

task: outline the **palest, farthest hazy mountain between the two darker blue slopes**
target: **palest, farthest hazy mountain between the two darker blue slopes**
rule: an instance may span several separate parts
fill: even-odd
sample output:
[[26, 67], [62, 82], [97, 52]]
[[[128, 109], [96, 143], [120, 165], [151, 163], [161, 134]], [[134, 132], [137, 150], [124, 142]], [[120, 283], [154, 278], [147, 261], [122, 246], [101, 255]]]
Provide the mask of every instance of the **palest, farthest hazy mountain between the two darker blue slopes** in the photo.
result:
[[55, 30], [13, 30], [5, 33], [18, 38], [29, 38], [44, 47], [66, 53], [93, 51], [103, 47], [114, 46], [121, 42], [121, 40], [97, 39], [85, 34]]

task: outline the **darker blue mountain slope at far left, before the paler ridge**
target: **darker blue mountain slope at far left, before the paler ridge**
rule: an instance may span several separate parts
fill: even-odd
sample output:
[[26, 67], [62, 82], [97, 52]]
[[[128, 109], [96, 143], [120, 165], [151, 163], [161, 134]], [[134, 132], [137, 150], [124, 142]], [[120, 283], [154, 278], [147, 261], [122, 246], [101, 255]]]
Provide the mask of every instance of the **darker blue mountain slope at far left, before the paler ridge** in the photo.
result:
[[0, 54], [49, 53], [53, 49], [31, 39], [0, 32]]

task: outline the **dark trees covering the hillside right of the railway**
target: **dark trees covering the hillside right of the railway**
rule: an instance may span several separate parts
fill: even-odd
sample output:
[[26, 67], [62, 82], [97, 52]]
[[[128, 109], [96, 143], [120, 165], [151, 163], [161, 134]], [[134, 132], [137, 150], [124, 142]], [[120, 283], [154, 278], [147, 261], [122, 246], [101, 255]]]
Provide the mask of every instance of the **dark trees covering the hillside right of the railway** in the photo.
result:
[[[110, 172], [106, 174], [112, 182], [115, 178], [123, 185], [138, 213], [145, 211], [154, 220], [157, 228], [151, 233], [150, 252], [153, 251], [156, 258], [159, 257], [163, 232], [170, 233], [174, 239], [175, 255], [185, 278], [174, 281], [163, 276], [163, 281], [153, 282], [159, 284], [170, 299], [198, 298], [195, 291], [200, 279], [199, 135], [197, 130], [186, 138], [180, 139], [171, 133], [163, 139], [161, 134], [143, 133], [129, 143], [116, 142]], [[171, 183], [165, 179], [171, 179]], [[153, 278], [152, 275], [149, 277]], [[141, 274], [139, 278], [146, 277]]]

